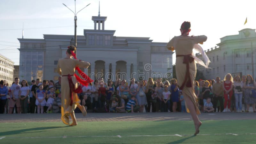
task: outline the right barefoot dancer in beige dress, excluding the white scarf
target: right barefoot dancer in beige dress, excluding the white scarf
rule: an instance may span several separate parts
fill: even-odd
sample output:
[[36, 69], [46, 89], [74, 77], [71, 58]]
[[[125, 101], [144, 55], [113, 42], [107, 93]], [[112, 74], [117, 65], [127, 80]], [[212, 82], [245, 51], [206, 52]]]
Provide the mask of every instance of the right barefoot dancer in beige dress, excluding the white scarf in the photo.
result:
[[[180, 85], [180, 89], [186, 101], [187, 111], [190, 112], [196, 132], [199, 133], [199, 127], [202, 124], [198, 119], [200, 111], [196, 94], [194, 92], [194, 84], [196, 78], [196, 63], [191, 56], [194, 44], [206, 41], [206, 36], [188, 36], [190, 32], [190, 22], [183, 22], [180, 28], [181, 35], [175, 36], [167, 44], [169, 50], [176, 52], [176, 76]], [[187, 69], [188, 68], [188, 69]], [[188, 71], [187, 71], [188, 70]]]

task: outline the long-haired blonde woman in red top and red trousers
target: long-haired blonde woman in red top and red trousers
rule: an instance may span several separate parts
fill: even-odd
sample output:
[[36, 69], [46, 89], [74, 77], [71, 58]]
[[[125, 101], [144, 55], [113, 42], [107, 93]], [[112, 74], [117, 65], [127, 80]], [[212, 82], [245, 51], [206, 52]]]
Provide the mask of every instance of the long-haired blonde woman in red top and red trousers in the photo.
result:
[[[224, 78], [223, 90], [224, 90], [224, 99], [225, 99], [223, 112], [230, 112], [229, 108], [231, 105], [231, 98], [233, 95], [233, 77], [229, 73]], [[227, 108], [227, 103], [228, 103], [228, 108]]]

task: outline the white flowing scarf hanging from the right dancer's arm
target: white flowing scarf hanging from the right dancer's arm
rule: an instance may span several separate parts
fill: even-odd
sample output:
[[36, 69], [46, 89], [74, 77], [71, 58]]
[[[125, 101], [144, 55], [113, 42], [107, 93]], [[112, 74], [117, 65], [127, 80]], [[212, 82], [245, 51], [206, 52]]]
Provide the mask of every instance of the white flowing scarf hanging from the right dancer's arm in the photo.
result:
[[198, 63], [198, 64], [200, 64], [200, 65], [202, 65], [202, 66], [204, 66], [205, 68], [208, 68], [208, 66], [209, 66], [209, 64], [210, 64], [211, 61], [209, 60], [208, 56], [207, 56], [206, 53], [204, 52], [203, 48], [202, 48], [200, 45], [195, 44], [195, 45], [194, 45], [194, 49], [195, 49], [197, 52], [199, 52], [199, 53], [202, 54], [202, 57], [203, 57], [203, 59], [205, 60], [205, 64], [204, 64], [204, 62], [203, 62], [202, 60], [198, 59], [198, 58], [195, 56], [195, 54], [193, 53], [193, 54], [192, 54], [192, 57], [195, 59], [195, 62]]

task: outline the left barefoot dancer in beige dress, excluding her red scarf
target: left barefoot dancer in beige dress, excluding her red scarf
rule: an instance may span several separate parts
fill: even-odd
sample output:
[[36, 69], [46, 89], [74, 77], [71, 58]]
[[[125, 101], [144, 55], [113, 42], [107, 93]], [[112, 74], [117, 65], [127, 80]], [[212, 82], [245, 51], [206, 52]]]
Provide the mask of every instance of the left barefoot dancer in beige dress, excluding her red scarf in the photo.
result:
[[74, 76], [75, 74], [75, 67], [80, 68], [88, 68], [90, 66], [90, 63], [81, 61], [81, 60], [75, 60], [71, 59], [73, 56], [71, 55], [71, 51], [75, 51], [75, 46], [69, 46], [67, 52], [66, 52], [66, 58], [59, 59], [57, 70], [60, 75], [62, 75], [61, 78], [61, 120], [64, 124], [69, 124], [69, 115], [72, 118], [72, 124], [77, 125], [76, 123], [76, 117], [74, 114], [74, 110], [76, 107], [78, 107], [81, 111], [83, 116], [86, 116], [86, 110], [84, 106], [80, 105], [80, 99], [78, 98], [77, 94], [75, 92], [72, 92], [73, 94], [73, 103], [72, 106], [70, 105], [71, 97], [70, 97], [70, 89], [69, 89], [69, 82], [68, 82], [68, 75], [71, 76], [72, 82], [74, 84], [75, 90], [77, 89], [77, 80]]

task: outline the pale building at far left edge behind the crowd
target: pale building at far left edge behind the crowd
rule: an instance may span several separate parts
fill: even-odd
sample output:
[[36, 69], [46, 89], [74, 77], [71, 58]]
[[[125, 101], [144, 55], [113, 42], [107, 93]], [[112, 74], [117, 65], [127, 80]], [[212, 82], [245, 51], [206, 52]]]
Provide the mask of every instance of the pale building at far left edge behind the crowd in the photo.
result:
[[6, 80], [9, 85], [12, 85], [14, 62], [2, 54], [0, 54], [0, 80]]

